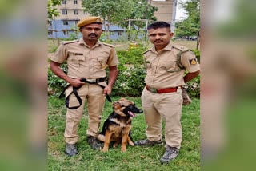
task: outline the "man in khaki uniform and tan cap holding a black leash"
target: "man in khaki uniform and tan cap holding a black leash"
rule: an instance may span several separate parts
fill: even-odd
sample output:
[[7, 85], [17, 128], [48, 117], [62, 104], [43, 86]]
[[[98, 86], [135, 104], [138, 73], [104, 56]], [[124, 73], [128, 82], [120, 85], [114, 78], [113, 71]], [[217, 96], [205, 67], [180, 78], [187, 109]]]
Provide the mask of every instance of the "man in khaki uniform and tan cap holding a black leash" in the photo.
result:
[[[64, 133], [66, 154], [69, 156], [78, 153], [78, 122], [82, 117], [85, 103], [89, 115], [87, 141], [93, 149], [101, 147], [97, 136], [105, 96], [111, 93], [118, 76], [118, 58], [114, 46], [98, 41], [102, 34], [102, 22], [102, 18], [98, 17], [80, 20], [77, 26], [82, 33], [82, 38], [62, 42], [50, 62], [50, 70], [70, 84], [65, 91], [68, 109]], [[67, 74], [59, 67], [65, 61], [68, 66]], [[110, 70], [107, 85], [106, 67]], [[74, 89], [78, 97], [74, 94]], [[79, 103], [78, 98], [82, 103]]]

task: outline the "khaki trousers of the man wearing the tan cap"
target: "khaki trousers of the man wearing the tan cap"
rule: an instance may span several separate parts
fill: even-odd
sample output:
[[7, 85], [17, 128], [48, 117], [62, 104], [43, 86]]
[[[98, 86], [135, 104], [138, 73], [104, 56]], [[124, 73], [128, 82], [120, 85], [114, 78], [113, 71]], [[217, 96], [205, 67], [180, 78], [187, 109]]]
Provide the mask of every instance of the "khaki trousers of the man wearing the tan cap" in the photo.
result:
[[[66, 96], [72, 91], [72, 86], [66, 89]], [[66, 111], [66, 129], [64, 133], [65, 141], [74, 144], [78, 141], [78, 123], [82, 118], [85, 103], [88, 111], [88, 129], [87, 135], [96, 137], [100, 126], [102, 111], [104, 108], [105, 96], [103, 89], [99, 85], [85, 84], [78, 89], [78, 94], [82, 99], [82, 105], [78, 109], [67, 109]], [[70, 95], [70, 107], [79, 105], [74, 93]]]

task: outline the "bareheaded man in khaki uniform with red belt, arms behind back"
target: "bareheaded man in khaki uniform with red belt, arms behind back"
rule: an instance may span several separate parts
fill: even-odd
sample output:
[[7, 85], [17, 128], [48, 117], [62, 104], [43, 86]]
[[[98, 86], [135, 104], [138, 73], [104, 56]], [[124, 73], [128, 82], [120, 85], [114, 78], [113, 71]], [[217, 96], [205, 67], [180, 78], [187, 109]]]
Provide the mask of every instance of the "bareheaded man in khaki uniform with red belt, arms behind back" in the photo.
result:
[[[154, 47], [144, 53], [146, 87], [142, 92], [142, 108], [146, 120], [145, 140], [135, 145], [162, 144], [162, 120], [166, 122], [166, 153], [161, 162], [178, 156], [182, 142], [182, 85], [199, 74], [199, 64], [192, 51], [170, 43], [170, 24], [154, 22], [147, 28]], [[180, 59], [178, 59], [180, 56]], [[185, 71], [188, 73], [184, 76]]]

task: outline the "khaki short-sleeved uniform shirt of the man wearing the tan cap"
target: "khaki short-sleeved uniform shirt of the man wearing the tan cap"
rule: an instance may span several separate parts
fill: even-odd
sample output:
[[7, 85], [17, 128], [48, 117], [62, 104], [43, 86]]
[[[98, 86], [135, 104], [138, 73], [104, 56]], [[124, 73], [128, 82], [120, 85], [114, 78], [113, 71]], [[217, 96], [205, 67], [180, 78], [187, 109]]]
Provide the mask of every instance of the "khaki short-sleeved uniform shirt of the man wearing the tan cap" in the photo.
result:
[[62, 42], [51, 60], [58, 63], [67, 61], [70, 78], [104, 78], [106, 66], [118, 65], [114, 46], [98, 41], [90, 48], [83, 38]]

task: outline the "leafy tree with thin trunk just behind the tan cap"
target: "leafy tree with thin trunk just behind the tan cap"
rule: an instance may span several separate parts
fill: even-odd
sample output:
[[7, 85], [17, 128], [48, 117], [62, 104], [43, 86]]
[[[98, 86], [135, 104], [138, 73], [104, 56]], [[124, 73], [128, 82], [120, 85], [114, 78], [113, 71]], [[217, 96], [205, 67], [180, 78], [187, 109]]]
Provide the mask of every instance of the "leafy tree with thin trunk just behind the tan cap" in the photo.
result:
[[[107, 39], [109, 39], [110, 23], [122, 21], [130, 16], [134, 0], [83, 0], [82, 6], [86, 12], [104, 19], [103, 24], [106, 28]], [[106, 20], [108, 23], [105, 22]]]

